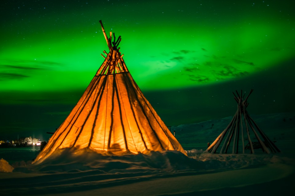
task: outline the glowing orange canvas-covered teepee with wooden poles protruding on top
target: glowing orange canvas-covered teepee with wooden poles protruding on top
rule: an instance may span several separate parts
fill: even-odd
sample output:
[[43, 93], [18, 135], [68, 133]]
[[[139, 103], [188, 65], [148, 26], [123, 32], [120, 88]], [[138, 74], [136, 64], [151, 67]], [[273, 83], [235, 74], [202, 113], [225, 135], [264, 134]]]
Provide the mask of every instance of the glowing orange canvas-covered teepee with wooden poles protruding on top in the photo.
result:
[[[121, 155], [178, 150], [182, 146], [168, 130], [130, 75], [115, 33], [107, 37], [109, 53], [77, 105], [50, 138], [34, 162], [57, 149], [91, 149]], [[104, 56], [104, 55], [103, 55]]]

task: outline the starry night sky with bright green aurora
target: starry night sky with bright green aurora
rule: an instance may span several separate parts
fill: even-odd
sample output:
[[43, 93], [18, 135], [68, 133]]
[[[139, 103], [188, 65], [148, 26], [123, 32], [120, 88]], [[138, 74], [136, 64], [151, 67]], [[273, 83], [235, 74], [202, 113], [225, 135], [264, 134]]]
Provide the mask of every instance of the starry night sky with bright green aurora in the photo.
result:
[[295, 13], [283, 1], [2, 0], [0, 139], [36, 137], [65, 120], [121, 35], [124, 61], [167, 126], [295, 111]]

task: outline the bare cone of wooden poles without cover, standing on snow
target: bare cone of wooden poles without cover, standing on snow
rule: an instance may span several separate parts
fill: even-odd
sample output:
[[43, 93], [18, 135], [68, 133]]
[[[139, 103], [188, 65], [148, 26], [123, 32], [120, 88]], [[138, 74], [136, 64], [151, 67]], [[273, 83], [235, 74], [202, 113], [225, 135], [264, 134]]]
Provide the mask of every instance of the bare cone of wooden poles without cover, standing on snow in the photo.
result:
[[[246, 99], [244, 99], [245, 94], [244, 96], [242, 95], [242, 90], [240, 94], [238, 93], [238, 91], [236, 91], [236, 94], [233, 92], [234, 99], [238, 103], [238, 109], [233, 119], [230, 121], [230, 123], [226, 127], [226, 129], [222, 131], [222, 133], [215, 139], [215, 141], [208, 147], [208, 149], [206, 149], [205, 152], [216, 153], [218, 147], [222, 143], [222, 140], [224, 140], [224, 142], [221, 149], [219, 150], [219, 153], [230, 153], [230, 150], [229, 150], [230, 146], [232, 146], [231, 153], [233, 154], [234, 153], [237, 154], [239, 149], [241, 148], [242, 148], [242, 153], [245, 153], [246, 148], [249, 148], [251, 153], [254, 153], [254, 149], [258, 149], [258, 148], [262, 148], [262, 150], [266, 153], [280, 152], [277, 146], [274, 145], [273, 141], [271, 141], [262, 132], [262, 130], [258, 127], [258, 125], [254, 122], [254, 120], [250, 117], [249, 113], [246, 110], [246, 107], [249, 105], [249, 103], [247, 102], [247, 99], [252, 92], [253, 92], [253, 89], [251, 89]], [[244, 120], [244, 123], [243, 123], [243, 120]], [[246, 137], [244, 136], [245, 130], [243, 129], [244, 127], [243, 125], [245, 125], [246, 127], [246, 133], [245, 133]], [[254, 133], [254, 139], [257, 139], [257, 141], [251, 140], [249, 126]], [[262, 141], [260, 137], [263, 138], [264, 141]], [[240, 140], [242, 140], [242, 145], [239, 143]], [[246, 143], [245, 141], [248, 142], [246, 146], [245, 146], [245, 143]]]

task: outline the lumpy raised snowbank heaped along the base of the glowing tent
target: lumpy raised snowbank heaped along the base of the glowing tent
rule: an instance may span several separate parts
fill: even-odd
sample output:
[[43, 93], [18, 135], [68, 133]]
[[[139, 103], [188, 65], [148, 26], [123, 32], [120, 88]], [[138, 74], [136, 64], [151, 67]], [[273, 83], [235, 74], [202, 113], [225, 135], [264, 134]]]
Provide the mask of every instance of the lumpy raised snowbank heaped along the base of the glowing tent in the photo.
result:
[[224, 170], [260, 167], [269, 163], [285, 163], [288, 160], [273, 154], [212, 154], [203, 150], [187, 151], [188, 156], [178, 151], [149, 154], [104, 155], [89, 149], [56, 150], [52, 156], [35, 164], [20, 164], [14, 171], [61, 173], [97, 170], [104, 174], [132, 173], [191, 173], [204, 170]]

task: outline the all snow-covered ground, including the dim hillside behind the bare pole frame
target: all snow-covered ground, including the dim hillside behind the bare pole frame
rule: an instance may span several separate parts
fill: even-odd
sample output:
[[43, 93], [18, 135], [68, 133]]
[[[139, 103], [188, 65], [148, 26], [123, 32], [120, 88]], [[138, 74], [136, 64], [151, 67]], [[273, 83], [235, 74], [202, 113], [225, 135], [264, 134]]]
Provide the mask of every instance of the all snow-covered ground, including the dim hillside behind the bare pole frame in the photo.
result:
[[1, 194], [293, 195], [294, 116], [252, 115], [281, 153], [203, 153], [207, 142], [214, 141], [230, 122], [231, 117], [227, 117], [171, 127], [188, 150], [188, 157], [175, 151], [104, 156], [64, 150], [37, 165], [15, 162], [13, 172], [0, 173]]

